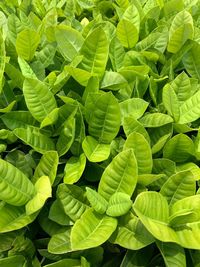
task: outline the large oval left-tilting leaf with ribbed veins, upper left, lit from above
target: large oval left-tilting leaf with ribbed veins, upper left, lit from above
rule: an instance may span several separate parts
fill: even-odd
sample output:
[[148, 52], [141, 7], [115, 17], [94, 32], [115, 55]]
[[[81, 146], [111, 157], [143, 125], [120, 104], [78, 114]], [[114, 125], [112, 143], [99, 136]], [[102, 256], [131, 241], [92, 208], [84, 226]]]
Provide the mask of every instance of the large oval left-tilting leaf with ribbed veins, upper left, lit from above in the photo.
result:
[[42, 122], [57, 107], [53, 94], [39, 80], [25, 79], [23, 92], [29, 111], [39, 122]]

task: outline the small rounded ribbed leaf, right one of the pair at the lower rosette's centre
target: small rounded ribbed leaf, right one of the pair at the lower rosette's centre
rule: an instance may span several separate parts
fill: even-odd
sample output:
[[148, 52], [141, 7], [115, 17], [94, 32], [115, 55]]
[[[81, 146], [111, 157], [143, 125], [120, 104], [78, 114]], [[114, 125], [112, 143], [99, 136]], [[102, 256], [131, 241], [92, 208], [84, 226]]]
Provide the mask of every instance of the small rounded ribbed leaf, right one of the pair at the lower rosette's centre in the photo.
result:
[[111, 217], [118, 217], [126, 214], [132, 206], [130, 196], [124, 193], [113, 194], [108, 202], [106, 214]]

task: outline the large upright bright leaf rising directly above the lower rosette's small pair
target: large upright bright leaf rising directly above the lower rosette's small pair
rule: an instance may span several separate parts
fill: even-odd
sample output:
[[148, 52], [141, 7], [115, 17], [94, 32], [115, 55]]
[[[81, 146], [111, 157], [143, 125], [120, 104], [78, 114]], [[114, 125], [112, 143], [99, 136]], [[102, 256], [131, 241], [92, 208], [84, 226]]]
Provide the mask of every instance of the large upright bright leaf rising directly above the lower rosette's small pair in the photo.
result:
[[107, 201], [114, 193], [131, 196], [137, 183], [137, 162], [133, 150], [120, 152], [104, 170], [98, 193]]

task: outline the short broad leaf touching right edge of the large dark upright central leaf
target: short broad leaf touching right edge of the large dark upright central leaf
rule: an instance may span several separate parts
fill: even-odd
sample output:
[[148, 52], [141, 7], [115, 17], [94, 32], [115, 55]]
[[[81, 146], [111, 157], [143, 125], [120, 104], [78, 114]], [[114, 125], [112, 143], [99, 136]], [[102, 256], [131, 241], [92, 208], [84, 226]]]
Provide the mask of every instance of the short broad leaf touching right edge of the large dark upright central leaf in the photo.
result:
[[144, 114], [149, 103], [141, 98], [131, 98], [120, 103], [121, 120], [122, 122], [128, 116], [134, 119], [139, 119]]

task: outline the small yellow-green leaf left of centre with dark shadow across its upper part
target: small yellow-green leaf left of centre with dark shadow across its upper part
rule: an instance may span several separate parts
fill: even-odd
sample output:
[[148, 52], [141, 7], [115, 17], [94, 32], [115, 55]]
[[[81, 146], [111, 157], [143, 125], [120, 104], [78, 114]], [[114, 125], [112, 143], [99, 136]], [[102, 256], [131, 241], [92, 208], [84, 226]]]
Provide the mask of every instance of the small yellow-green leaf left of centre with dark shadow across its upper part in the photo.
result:
[[82, 176], [83, 171], [86, 165], [86, 157], [85, 154], [81, 154], [79, 157], [71, 157], [64, 169], [64, 183], [65, 184], [74, 184], [76, 183]]

